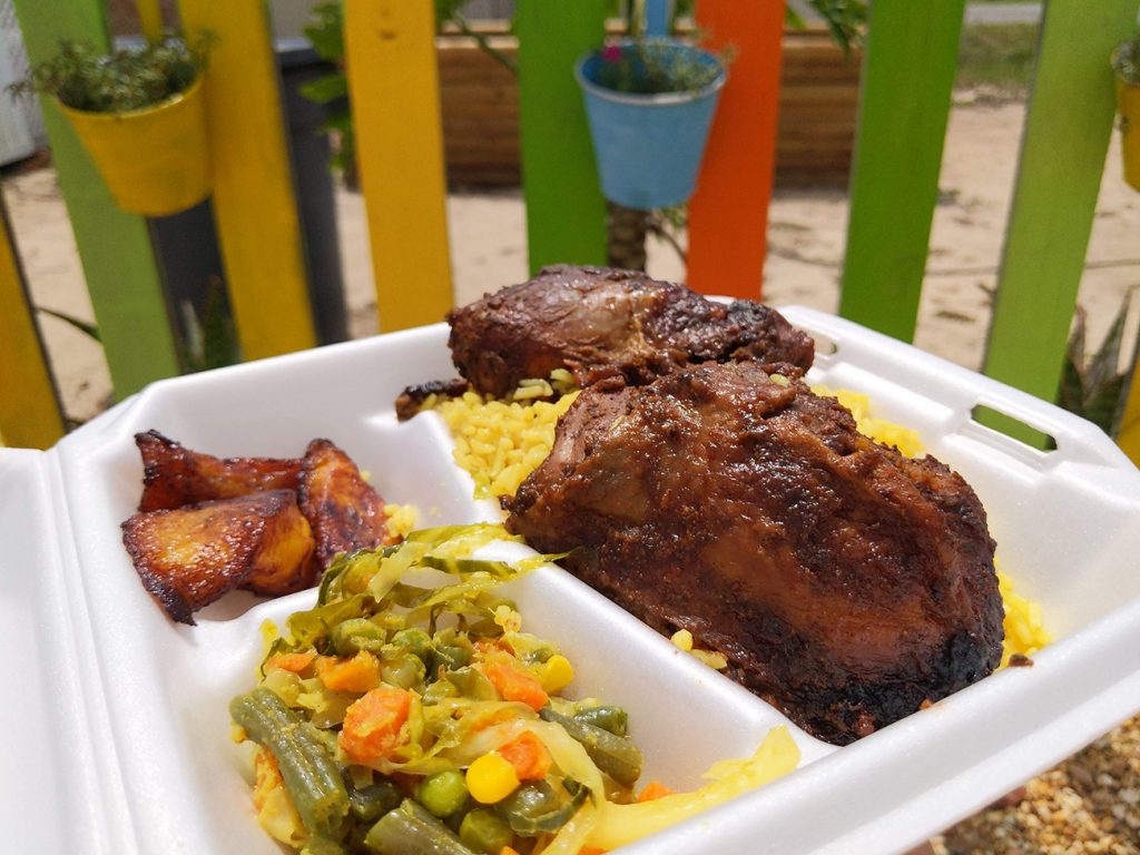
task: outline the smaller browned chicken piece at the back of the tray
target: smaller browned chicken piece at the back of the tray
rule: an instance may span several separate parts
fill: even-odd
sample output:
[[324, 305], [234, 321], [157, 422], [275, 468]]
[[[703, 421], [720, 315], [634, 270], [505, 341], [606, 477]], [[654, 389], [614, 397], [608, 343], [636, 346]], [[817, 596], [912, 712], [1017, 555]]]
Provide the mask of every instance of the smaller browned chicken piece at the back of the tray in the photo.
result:
[[496, 396], [555, 368], [569, 369], [585, 388], [609, 376], [645, 383], [707, 360], [806, 370], [814, 353], [812, 339], [766, 306], [725, 306], [683, 285], [597, 267], [548, 267], [454, 310], [448, 320], [459, 374]]

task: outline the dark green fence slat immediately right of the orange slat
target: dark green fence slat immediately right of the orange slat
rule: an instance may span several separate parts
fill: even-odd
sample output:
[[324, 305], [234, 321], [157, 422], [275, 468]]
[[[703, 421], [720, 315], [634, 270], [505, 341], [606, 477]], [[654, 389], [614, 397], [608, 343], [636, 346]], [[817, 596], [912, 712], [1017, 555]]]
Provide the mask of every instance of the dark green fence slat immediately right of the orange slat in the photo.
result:
[[914, 337], [966, 0], [874, 0], [839, 314]]

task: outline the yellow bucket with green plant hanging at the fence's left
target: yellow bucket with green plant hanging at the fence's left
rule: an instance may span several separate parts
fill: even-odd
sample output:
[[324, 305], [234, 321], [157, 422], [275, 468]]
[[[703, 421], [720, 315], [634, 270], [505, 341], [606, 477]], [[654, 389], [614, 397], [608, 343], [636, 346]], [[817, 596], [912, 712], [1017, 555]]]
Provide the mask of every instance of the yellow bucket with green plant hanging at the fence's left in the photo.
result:
[[55, 99], [120, 207], [164, 217], [211, 190], [202, 92], [207, 42], [168, 38], [103, 54], [65, 41], [11, 89]]

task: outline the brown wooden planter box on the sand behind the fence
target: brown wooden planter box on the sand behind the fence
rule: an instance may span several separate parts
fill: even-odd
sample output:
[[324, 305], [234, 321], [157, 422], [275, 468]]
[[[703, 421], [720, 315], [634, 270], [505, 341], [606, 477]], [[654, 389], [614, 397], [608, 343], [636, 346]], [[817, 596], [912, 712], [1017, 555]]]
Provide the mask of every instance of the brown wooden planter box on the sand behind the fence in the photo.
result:
[[[511, 57], [516, 42], [492, 35]], [[519, 89], [514, 75], [475, 41], [443, 35], [440, 98], [448, 181], [453, 186], [519, 185]], [[845, 187], [858, 104], [860, 57], [845, 56], [825, 31], [784, 34], [776, 139], [779, 186]]]

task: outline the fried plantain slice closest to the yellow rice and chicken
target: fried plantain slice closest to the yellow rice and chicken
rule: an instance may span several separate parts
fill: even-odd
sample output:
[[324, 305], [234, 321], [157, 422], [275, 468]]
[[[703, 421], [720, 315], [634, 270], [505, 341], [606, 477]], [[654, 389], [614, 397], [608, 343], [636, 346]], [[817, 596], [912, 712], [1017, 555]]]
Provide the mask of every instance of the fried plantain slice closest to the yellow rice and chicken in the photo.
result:
[[384, 499], [361, 477], [352, 458], [327, 439], [315, 439], [301, 465], [301, 511], [312, 526], [317, 561], [327, 568], [341, 552], [386, 546]]

